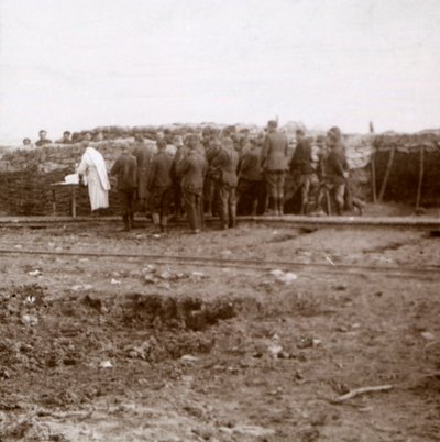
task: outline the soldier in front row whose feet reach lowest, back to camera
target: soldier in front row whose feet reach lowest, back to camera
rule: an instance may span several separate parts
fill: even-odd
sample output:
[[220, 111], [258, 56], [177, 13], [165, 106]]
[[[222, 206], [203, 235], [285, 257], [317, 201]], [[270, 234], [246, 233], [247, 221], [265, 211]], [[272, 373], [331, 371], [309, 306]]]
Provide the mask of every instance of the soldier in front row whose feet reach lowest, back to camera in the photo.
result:
[[189, 226], [196, 234], [201, 231], [204, 224], [204, 181], [208, 169], [206, 157], [198, 152], [197, 146], [198, 139], [191, 135], [187, 154], [176, 164]]

